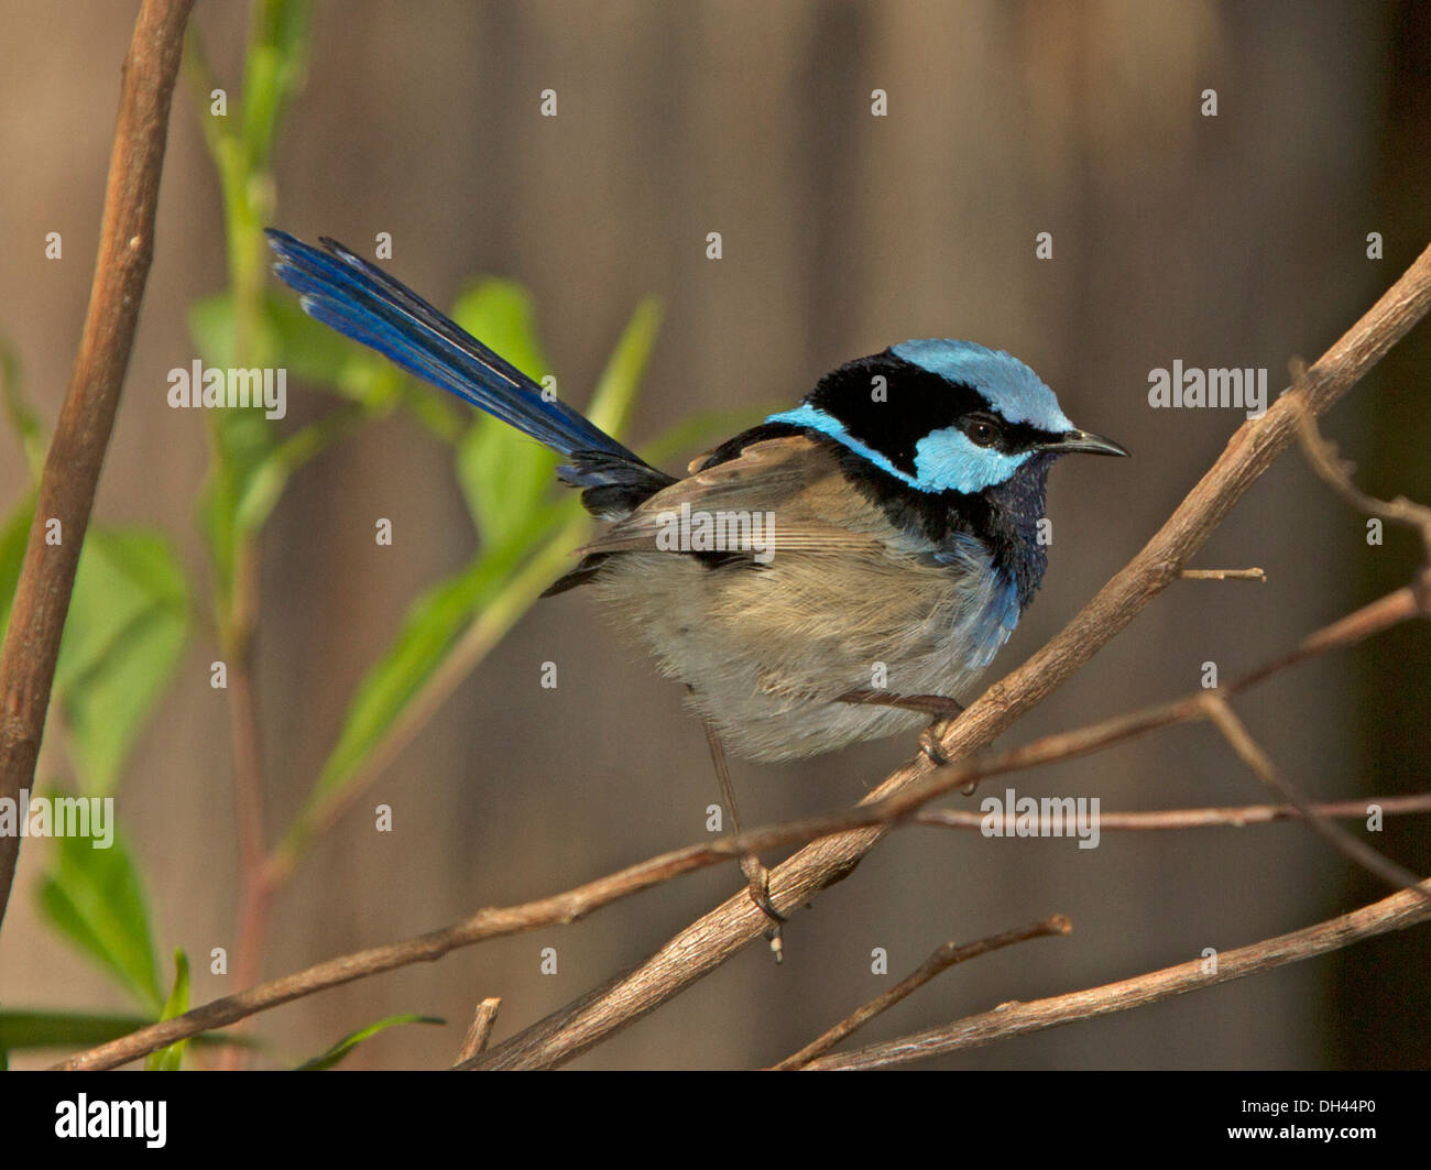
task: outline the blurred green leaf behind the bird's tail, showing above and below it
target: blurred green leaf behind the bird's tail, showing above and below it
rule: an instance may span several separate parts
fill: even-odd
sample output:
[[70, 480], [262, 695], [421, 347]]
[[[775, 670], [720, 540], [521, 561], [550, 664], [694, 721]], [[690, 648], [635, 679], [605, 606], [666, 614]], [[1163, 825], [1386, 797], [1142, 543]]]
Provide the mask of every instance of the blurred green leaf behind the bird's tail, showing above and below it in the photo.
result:
[[[484, 280], [458, 298], [452, 318], [537, 382], [551, 370], [537, 336], [531, 293], [511, 280]], [[557, 455], [501, 419], [474, 412], [456, 449], [468, 511], [488, 544], [522, 528], [552, 491]]]

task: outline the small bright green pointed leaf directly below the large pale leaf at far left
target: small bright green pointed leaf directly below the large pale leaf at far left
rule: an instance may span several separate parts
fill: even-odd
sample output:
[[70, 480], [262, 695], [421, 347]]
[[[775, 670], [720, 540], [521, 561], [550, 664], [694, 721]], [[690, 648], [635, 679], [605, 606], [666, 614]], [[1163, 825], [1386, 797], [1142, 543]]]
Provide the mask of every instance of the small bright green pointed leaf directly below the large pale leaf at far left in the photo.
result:
[[153, 1018], [165, 997], [143, 887], [124, 838], [114, 831], [109, 848], [94, 848], [87, 837], [56, 837], [53, 845], [52, 868], [39, 885], [41, 913]]

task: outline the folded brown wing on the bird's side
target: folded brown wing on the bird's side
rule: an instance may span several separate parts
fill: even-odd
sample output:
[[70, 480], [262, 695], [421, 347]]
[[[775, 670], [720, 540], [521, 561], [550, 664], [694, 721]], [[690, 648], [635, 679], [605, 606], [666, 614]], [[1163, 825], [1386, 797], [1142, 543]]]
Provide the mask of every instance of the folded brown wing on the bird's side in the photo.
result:
[[[661, 489], [581, 552], [877, 552], [880, 518], [863, 499], [851, 513], [851, 495], [817, 442], [764, 439]], [[703, 548], [713, 535], [721, 544]]]

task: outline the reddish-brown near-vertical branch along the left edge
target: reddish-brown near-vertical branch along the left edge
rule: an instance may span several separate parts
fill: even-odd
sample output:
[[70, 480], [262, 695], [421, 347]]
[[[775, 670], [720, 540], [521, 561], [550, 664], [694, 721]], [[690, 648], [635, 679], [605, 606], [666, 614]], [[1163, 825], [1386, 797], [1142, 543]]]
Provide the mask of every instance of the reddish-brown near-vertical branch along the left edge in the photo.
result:
[[[54, 662], [94, 488], [139, 323], [155, 249], [169, 103], [193, 0], [145, 0], [124, 57], [109, 159], [99, 256], [70, 386], [44, 461], [10, 631], [0, 655], [0, 800], [34, 780]], [[60, 522], [60, 542], [49, 525]], [[0, 837], [0, 918], [10, 898], [19, 835]]]

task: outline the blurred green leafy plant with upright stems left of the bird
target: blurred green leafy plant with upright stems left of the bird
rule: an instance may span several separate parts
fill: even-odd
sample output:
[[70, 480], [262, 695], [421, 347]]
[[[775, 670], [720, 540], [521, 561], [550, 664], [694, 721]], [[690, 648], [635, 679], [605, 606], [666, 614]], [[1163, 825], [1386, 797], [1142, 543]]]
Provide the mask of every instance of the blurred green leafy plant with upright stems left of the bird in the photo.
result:
[[[283, 112], [302, 87], [308, 50], [306, 0], [256, 0], [243, 67], [242, 102], [225, 100], [197, 36], [186, 46], [187, 76], [206, 112], [209, 154], [220, 180], [228, 286], [189, 313], [197, 356], [209, 368], [285, 368], [301, 388], [332, 399], [318, 421], [285, 429], [258, 411], [206, 411], [209, 469], [199, 498], [212, 598], [196, 605], [192, 575], [173, 542], [152, 528], [90, 526], [56, 671], [70, 774], [54, 794], [113, 795], [126, 782], [136, 737], [175, 679], [196, 626], [209, 625], [229, 672], [233, 754], [243, 864], [242, 910], [233, 978], [250, 983], [260, 967], [266, 908], [312, 840], [351, 805], [396, 748], [415, 735], [452, 687], [475, 669], [568, 565], [590, 521], [574, 493], [554, 483], [555, 458], [505, 425], [467, 412], [439, 392], [404, 378], [389, 363], [311, 320], [286, 296], [266, 290], [263, 227], [275, 220], [273, 146]], [[537, 329], [532, 296], [518, 285], [478, 279], [454, 309], [455, 319], [535, 378], [551, 373]], [[622, 330], [588, 403], [592, 421], [621, 435], [660, 325], [643, 300]], [[17, 363], [0, 350], [6, 416], [37, 481], [46, 436], [24, 400]], [[358, 429], [401, 412], [451, 461], [478, 545], [456, 574], [435, 582], [409, 606], [392, 645], [368, 669], [348, 707], [308, 800], [280, 840], [262, 840], [262, 777], [256, 771], [256, 705], [249, 669], [258, 622], [259, 538], [280, 506], [293, 473]], [[727, 432], [744, 416], [693, 419], [647, 448], [664, 458]], [[0, 631], [33, 516], [29, 491], [0, 523]], [[248, 761], [248, 762], [245, 762]], [[123, 834], [110, 848], [60, 838], [46, 860], [40, 907], [50, 927], [123, 990], [139, 1014], [0, 1011], [0, 1060], [10, 1051], [92, 1044], [167, 1018], [187, 1006], [189, 964], [176, 953], [166, 994], [152, 930], [143, 867]], [[326, 1068], [358, 1043], [402, 1016], [355, 1031], [302, 1067]], [[250, 1044], [243, 1036], [200, 1043]], [[185, 1044], [150, 1057], [150, 1068], [177, 1068]]]

